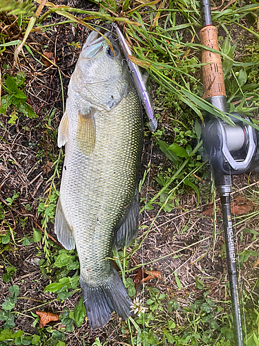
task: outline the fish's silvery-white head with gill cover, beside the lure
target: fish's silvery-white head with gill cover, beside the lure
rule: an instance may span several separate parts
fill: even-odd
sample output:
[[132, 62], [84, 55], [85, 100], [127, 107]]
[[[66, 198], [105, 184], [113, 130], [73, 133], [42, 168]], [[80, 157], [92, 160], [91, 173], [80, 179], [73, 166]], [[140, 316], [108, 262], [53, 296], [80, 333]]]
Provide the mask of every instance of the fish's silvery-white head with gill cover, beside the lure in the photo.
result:
[[71, 87], [93, 108], [110, 111], [128, 93], [131, 83], [122, 51], [110, 33], [92, 31], [71, 78]]

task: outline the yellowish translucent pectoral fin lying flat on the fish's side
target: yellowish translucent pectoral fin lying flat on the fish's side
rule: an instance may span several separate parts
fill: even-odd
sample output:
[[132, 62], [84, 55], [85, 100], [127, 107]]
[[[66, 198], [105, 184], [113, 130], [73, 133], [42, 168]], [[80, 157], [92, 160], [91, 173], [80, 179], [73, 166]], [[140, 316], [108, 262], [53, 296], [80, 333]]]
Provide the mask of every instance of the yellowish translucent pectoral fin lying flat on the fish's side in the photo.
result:
[[92, 109], [79, 113], [77, 125], [77, 145], [79, 150], [90, 155], [95, 147], [95, 118]]

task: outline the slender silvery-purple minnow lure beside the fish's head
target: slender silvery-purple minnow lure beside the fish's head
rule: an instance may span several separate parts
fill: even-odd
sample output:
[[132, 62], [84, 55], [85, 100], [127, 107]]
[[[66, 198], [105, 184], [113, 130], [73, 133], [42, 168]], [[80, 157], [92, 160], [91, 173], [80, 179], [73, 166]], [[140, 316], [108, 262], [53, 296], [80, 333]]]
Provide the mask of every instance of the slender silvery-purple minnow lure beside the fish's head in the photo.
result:
[[128, 44], [126, 42], [124, 35], [122, 35], [121, 30], [119, 30], [117, 24], [115, 24], [115, 23], [113, 23], [113, 27], [116, 30], [117, 37], [119, 39], [119, 44], [122, 47], [122, 51], [123, 51], [124, 56], [126, 58], [126, 61], [128, 63], [128, 68], [129, 68], [130, 73], [132, 75], [133, 82], [137, 88], [137, 93], [140, 96], [140, 100], [141, 100], [142, 105], [146, 111], [146, 115], [148, 116], [148, 120], [149, 120], [148, 128], [150, 129], [151, 132], [153, 132], [157, 128], [157, 120], [155, 119], [153, 105], [152, 105], [149, 93], [146, 90], [146, 85], [145, 85], [144, 80], [142, 78], [142, 73], [140, 72], [139, 67], [128, 58], [128, 55], [132, 56], [132, 54], [131, 54], [130, 48], [128, 47]]

